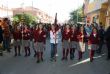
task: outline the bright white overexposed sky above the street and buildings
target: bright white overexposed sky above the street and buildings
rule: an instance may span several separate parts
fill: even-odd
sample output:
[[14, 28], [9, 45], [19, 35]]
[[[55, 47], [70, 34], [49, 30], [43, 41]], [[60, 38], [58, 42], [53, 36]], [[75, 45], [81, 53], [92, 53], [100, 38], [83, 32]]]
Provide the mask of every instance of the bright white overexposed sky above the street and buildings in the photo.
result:
[[0, 0], [0, 4], [9, 8], [21, 7], [23, 3], [24, 7], [32, 6], [32, 2], [34, 7], [41, 9], [52, 17], [57, 13], [59, 22], [68, 20], [69, 13], [83, 5], [83, 0]]

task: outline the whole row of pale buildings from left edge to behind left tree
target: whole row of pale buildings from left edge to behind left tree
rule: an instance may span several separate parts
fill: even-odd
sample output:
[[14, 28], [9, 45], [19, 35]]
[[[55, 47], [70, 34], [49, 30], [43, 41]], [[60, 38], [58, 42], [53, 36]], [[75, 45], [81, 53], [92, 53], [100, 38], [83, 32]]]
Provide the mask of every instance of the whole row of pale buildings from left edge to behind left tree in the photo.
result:
[[53, 17], [49, 16], [47, 13], [43, 12], [42, 10], [34, 7], [25, 7], [25, 8], [12, 8], [8, 9], [8, 7], [0, 6], [0, 18], [8, 17], [12, 20], [12, 17], [16, 14], [32, 14], [36, 16], [37, 22], [42, 23], [53, 23]]

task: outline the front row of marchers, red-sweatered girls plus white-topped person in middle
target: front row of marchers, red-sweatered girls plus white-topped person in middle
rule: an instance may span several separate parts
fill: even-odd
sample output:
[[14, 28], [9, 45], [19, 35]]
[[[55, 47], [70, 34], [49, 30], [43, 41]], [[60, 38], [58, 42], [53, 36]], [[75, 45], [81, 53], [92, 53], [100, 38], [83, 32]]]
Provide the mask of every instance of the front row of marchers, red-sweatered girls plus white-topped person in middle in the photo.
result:
[[[61, 33], [62, 38], [59, 36]], [[31, 55], [31, 48], [34, 50], [34, 57], [37, 58], [37, 63], [43, 61], [44, 50], [46, 49], [46, 38], [49, 35], [51, 45], [51, 61], [56, 61], [57, 45], [59, 39], [62, 41], [62, 58], [61, 60], [73, 60], [75, 51], [78, 51], [78, 60], [81, 60], [83, 53], [85, 52], [85, 38], [88, 39], [87, 45], [90, 49], [90, 61], [93, 61], [94, 52], [98, 49], [99, 36], [97, 29], [92, 28], [92, 33], [88, 36], [84, 30], [84, 27], [75, 27], [74, 25], [56, 26], [51, 25], [47, 30], [44, 29], [42, 24], [36, 27], [28, 27], [22, 23], [22, 26], [15, 25], [12, 32], [14, 56], [21, 56], [21, 45], [25, 51], [25, 57]]]

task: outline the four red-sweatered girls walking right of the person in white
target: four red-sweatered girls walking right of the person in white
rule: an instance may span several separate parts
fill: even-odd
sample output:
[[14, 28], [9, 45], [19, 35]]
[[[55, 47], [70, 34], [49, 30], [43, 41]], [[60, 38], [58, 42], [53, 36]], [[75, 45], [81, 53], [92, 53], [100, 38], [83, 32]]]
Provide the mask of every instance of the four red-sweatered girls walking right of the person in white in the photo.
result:
[[99, 36], [97, 29], [93, 27], [90, 36], [84, 31], [84, 27], [76, 28], [66, 25], [62, 33], [63, 44], [63, 57], [62, 60], [68, 60], [68, 54], [70, 53], [70, 59], [74, 59], [75, 50], [78, 51], [78, 60], [81, 60], [83, 53], [85, 52], [85, 38], [88, 39], [88, 46], [90, 49], [90, 61], [93, 61], [94, 52], [98, 49]]

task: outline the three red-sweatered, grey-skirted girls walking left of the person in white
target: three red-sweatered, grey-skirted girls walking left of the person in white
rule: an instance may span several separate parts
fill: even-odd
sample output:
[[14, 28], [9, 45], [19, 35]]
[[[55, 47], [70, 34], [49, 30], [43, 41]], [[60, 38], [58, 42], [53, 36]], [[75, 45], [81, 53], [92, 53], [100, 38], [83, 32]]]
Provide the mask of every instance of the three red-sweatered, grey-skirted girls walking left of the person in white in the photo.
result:
[[45, 49], [46, 32], [42, 24], [35, 28], [26, 25], [15, 26], [13, 31], [15, 56], [20, 56], [21, 45], [25, 51], [25, 57], [30, 56], [30, 45], [37, 57], [37, 62], [43, 61], [43, 50]]

